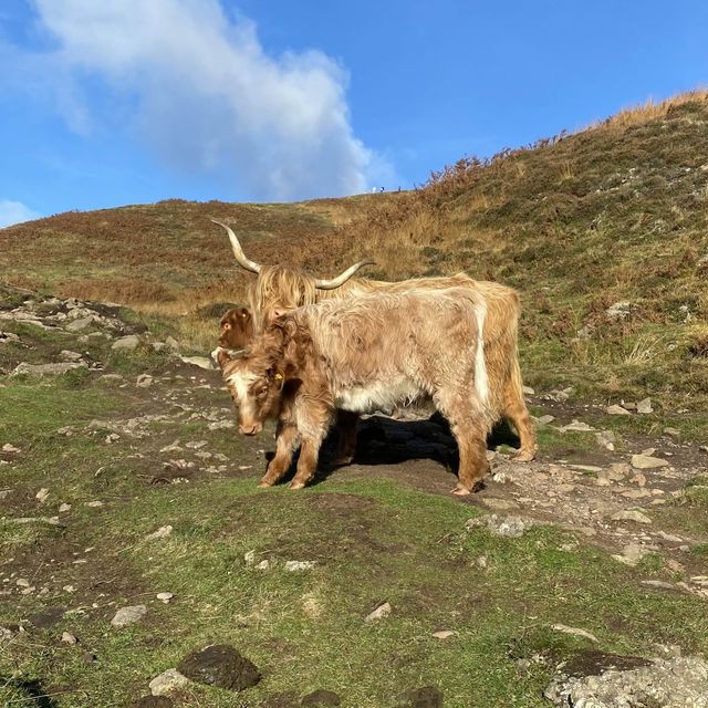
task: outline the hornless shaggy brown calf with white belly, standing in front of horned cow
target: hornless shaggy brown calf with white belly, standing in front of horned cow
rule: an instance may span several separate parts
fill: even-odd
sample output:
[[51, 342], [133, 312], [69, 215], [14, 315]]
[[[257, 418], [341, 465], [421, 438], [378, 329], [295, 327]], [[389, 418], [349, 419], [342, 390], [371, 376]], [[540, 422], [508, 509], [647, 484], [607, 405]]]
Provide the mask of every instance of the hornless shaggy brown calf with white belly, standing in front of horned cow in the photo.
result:
[[261, 480], [278, 482], [301, 444], [291, 488], [312, 478], [337, 408], [365, 413], [429, 399], [448, 419], [459, 452], [456, 494], [488, 470], [487, 434], [514, 375], [509, 358], [487, 360], [487, 303], [467, 288], [418, 289], [330, 300], [289, 312], [223, 367], [244, 435], [280, 423], [275, 457]]

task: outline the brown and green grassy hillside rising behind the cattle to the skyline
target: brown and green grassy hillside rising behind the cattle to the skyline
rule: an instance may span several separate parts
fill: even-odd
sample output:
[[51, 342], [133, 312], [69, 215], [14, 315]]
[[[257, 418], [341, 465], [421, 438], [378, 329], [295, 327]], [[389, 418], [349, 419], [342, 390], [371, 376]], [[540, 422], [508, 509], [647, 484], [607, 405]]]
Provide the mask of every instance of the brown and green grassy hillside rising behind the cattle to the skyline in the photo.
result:
[[[649, 395], [700, 427], [707, 126], [708, 94], [691, 93], [489, 160], [464, 158], [413, 192], [61, 215], [0, 231], [0, 267], [17, 284], [191, 313], [177, 326], [201, 347], [219, 310], [205, 305], [241, 300], [249, 279], [209, 217], [228, 219], [256, 260], [323, 274], [364, 256], [389, 279], [465, 270], [521, 291], [529, 383], [595, 400]], [[627, 304], [612, 316], [615, 303]]]

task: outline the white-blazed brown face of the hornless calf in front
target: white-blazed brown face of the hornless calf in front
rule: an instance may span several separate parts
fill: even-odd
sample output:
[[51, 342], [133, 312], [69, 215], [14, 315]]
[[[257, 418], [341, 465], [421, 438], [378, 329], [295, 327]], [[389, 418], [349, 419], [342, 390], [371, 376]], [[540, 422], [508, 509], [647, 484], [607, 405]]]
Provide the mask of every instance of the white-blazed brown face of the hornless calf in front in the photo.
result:
[[280, 410], [282, 373], [272, 363], [246, 356], [227, 364], [223, 378], [238, 407], [239, 430], [258, 435]]

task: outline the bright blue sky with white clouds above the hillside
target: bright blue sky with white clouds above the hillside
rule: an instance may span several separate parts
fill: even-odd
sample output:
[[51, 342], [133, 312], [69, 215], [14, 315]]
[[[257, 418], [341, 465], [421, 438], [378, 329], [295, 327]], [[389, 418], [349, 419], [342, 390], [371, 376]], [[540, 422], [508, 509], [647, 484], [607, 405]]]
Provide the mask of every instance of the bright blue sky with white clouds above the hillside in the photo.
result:
[[423, 184], [708, 85], [708, 2], [3, 0], [0, 226]]

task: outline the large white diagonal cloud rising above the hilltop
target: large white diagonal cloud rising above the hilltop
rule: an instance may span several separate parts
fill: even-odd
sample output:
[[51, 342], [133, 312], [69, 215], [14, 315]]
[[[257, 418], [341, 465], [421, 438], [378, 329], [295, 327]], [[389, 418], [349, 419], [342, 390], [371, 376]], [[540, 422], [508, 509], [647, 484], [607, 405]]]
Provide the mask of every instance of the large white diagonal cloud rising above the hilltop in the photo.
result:
[[79, 133], [112, 116], [170, 168], [258, 199], [353, 194], [393, 173], [354, 135], [340, 65], [319, 51], [268, 55], [256, 25], [219, 0], [34, 6], [56, 42], [43, 58], [56, 107]]

